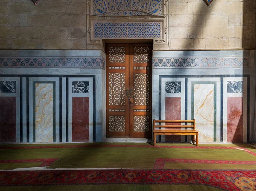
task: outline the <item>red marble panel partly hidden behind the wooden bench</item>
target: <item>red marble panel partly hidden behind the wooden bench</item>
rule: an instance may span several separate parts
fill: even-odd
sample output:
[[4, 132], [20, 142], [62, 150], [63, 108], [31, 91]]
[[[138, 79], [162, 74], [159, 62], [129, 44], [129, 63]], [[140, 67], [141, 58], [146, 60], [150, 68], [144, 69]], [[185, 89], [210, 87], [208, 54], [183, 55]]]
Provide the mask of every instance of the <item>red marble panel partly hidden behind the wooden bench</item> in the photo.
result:
[[[181, 98], [166, 97], [166, 120], [180, 120]], [[176, 123], [166, 125], [176, 125]], [[177, 123], [180, 125], [180, 123]], [[180, 142], [180, 135], [166, 135], [166, 142]]]

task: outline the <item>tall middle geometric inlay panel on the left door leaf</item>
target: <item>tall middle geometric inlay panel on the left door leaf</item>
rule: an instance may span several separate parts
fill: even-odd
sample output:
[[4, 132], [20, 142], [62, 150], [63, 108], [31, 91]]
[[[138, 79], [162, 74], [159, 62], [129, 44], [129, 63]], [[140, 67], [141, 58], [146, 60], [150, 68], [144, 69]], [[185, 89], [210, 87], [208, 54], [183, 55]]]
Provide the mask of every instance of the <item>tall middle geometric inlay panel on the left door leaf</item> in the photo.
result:
[[125, 105], [124, 73], [109, 73], [109, 105]]

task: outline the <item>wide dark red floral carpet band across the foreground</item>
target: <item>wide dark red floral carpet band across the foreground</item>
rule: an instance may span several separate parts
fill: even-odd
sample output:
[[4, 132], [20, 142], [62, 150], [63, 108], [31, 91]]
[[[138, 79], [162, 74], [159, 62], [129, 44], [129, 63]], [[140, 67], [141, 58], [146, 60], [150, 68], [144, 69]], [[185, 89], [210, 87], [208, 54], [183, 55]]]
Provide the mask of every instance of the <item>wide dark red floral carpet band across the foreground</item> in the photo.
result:
[[208, 185], [224, 190], [255, 189], [251, 170], [68, 170], [0, 171], [0, 186], [86, 184]]

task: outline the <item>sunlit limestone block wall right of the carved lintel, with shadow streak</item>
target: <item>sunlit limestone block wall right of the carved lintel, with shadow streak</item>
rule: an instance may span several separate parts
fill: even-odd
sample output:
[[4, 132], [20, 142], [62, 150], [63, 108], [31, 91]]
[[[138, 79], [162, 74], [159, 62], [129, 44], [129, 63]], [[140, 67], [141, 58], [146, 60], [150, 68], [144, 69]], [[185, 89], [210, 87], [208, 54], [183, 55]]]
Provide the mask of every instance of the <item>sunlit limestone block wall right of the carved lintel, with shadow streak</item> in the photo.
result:
[[256, 48], [256, 1], [169, 1], [170, 49]]

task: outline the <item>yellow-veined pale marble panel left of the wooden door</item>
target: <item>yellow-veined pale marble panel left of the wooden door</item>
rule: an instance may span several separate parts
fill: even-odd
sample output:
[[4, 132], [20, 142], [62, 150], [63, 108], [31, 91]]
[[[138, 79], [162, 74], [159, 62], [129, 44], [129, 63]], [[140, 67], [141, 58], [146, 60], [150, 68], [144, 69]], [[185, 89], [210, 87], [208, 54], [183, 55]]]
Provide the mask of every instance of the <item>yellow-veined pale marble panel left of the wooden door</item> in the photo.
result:
[[35, 84], [35, 142], [53, 142], [53, 84]]

